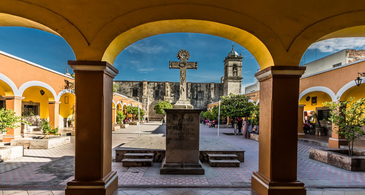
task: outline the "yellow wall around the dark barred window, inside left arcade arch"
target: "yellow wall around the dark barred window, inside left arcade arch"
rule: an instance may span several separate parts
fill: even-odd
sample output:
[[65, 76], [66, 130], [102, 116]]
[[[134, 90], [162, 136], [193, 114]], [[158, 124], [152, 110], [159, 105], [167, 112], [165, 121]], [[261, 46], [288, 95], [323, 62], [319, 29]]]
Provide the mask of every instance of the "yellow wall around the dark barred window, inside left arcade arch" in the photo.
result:
[[[37, 102], [40, 103], [39, 106], [39, 117], [40, 118], [48, 118], [49, 117], [49, 105], [47, 103], [48, 100], [48, 96], [47, 93], [45, 93], [43, 96], [40, 95], [39, 91], [40, 91], [40, 87], [29, 87], [28, 89], [26, 89], [23, 93], [23, 97], [25, 97], [23, 99], [23, 101], [33, 101], [33, 102]], [[43, 91], [46, 91], [47, 89], [43, 88]]]

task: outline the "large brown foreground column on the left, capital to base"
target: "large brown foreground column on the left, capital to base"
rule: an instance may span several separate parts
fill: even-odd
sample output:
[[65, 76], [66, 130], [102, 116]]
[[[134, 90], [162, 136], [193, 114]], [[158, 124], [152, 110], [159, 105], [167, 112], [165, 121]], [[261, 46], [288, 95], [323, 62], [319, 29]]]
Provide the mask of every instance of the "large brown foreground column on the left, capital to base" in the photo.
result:
[[111, 195], [118, 176], [111, 171], [112, 84], [118, 70], [105, 61], [68, 61], [75, 73], [75, 178], [66, 195]]

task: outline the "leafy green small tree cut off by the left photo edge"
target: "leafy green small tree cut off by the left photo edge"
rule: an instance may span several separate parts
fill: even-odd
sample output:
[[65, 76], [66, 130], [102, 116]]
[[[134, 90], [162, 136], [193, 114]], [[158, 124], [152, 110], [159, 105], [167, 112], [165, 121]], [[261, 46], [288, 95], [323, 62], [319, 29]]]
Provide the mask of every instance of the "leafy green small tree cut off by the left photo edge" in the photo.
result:
[[0, 133], [7, 132], [6, 128], [17, 128], [19, 127], [15, 123], [21, 122], [30, 124], [29, 122], [22, 119], [23, 117], [17, 116], [15, 112], [11, 109], [0, 109]]

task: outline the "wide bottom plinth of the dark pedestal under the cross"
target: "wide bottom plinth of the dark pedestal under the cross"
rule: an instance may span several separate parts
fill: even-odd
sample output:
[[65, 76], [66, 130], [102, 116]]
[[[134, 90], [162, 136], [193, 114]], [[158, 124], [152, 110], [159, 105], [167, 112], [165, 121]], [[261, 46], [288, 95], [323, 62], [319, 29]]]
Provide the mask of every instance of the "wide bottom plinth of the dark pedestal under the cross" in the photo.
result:
[[166, 163], [166, 159], [161, 164], [160, 169], [161, 175], [204, 175], [204, 169], [201, 164], [198, 163], [187, 163], [187, 162], [176, 162]]

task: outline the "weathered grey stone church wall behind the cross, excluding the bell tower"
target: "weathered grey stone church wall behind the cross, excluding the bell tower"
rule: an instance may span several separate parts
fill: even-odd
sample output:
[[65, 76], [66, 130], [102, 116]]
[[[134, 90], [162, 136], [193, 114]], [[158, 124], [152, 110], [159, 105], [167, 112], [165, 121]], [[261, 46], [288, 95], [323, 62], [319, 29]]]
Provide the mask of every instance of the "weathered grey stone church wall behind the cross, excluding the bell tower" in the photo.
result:
[[[172, 104], [180, 98], [179, 82], [158, 82], [158, 81], [121, 81], [116, 80], [118, 84], [117, 93], [123, 94], [128, 98], [132, 97], [133, 89], [137, 90], [138, 97], [143, 102], [143, 109], [149, 120], [162, 120], [163, 115], [158, 115], [153, 107], [159, 100], [168, 100]], [[204, 109], [207, 104], [218, 101], [223, 95], [222, 83], [194, 83], [187, 82], [187, 98], [190, 99], [194, 109]]]

